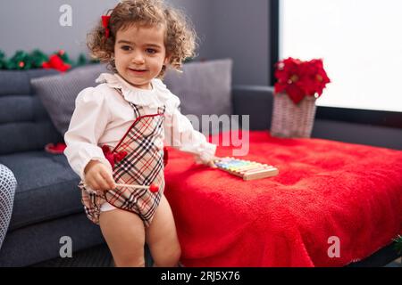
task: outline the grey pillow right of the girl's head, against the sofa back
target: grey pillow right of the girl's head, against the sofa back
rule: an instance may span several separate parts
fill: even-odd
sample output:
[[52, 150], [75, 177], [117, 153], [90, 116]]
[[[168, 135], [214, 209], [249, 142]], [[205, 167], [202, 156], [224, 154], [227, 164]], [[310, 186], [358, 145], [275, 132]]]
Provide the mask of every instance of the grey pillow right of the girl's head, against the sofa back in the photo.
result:
[[231, 68], [230, 59], [189, 62], [183, 73], [169, 69], [163, 82], [180, 98], [185, 115], [231, 114]]

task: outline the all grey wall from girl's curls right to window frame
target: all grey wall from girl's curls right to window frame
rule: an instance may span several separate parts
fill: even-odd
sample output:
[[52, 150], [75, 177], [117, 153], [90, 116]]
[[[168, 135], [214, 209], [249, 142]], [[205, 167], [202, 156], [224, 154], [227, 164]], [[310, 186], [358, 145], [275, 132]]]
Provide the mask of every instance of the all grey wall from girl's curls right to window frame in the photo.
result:
[[182, 7], [200, 36], [199, 59], [234, 60], [233, 84], [268, 85], [269, 1], [171, 0]]

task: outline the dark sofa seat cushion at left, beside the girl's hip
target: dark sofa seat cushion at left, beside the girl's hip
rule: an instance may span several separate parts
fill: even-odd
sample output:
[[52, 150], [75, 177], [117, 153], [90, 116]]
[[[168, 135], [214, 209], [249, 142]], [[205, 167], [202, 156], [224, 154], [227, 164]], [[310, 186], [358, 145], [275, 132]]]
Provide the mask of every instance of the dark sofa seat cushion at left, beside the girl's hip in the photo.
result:
[[0, 156], [18, 182], [10, 231], [83, 211], [80, 178], [64, 155], [28, 151]]

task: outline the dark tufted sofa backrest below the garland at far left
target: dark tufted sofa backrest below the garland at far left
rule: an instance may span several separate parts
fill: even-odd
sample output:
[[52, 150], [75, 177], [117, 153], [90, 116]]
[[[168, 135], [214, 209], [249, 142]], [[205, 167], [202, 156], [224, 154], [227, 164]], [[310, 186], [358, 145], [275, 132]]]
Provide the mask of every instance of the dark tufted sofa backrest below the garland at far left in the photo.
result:
[[38, 151], [62, 139], [29, 83], [31, 78], [56, 73], [53, 69], [0, 70], [0, 155]]

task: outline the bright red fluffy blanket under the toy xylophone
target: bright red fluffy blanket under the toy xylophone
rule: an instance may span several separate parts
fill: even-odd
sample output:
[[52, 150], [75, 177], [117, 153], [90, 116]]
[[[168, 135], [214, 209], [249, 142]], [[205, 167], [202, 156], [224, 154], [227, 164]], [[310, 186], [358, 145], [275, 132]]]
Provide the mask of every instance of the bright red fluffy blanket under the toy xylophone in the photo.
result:
[[251, 132], [241, 159], [280, 169], [255, 181], [169, 151], [165, 194], [183, 265], [348, 265], [402, 232], [402, 151]]

